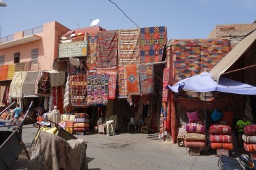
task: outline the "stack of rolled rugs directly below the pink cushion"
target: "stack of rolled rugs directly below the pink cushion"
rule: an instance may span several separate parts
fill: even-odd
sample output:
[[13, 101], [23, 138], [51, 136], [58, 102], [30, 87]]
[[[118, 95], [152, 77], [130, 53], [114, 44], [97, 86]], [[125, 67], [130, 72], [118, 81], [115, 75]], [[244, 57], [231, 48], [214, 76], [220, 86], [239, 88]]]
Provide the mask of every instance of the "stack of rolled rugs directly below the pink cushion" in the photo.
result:
[[189, 148], [190, 155], [200, 155], [200, 149], [205, 148], [205, 127], [197, 123], [188, 123], [185, 126], [186, 135], [184, 144]]

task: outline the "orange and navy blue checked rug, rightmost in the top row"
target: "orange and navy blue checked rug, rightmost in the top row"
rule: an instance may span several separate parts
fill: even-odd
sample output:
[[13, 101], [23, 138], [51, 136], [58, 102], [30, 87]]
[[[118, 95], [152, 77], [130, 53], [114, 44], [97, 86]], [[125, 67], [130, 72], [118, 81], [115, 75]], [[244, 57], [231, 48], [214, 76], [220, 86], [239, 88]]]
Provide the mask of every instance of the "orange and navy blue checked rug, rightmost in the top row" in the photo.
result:
[[166, 27], [141, 28], [139, 43], [140, 63], [153, 63], [162, 61], [162, 52], [167, 41]]

